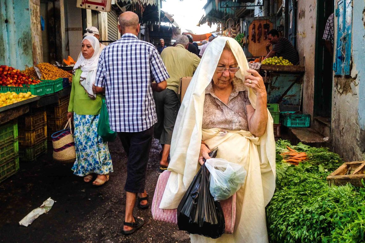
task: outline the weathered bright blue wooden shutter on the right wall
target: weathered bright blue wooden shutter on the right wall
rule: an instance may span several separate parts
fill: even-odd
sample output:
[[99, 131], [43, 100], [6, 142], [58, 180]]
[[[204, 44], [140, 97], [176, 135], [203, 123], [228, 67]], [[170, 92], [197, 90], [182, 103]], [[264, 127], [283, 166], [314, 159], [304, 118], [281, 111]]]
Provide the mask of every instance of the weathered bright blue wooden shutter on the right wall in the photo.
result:
[[337, 3], [337, 42], [335, 55], [335, 75], [350, 75], [352, 46], [352, 0]]

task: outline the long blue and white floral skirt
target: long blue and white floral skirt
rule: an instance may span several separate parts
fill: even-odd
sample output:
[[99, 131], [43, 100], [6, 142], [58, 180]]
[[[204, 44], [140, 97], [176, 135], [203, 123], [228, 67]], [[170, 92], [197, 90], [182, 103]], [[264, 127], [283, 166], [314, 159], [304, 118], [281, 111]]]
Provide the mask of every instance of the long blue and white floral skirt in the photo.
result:
[[97, 134], [99, 116], [73, 115], [76, 161], [72, 170], [77, 176], [91, 173], [106, 175], [113, 172], [108, 144]]

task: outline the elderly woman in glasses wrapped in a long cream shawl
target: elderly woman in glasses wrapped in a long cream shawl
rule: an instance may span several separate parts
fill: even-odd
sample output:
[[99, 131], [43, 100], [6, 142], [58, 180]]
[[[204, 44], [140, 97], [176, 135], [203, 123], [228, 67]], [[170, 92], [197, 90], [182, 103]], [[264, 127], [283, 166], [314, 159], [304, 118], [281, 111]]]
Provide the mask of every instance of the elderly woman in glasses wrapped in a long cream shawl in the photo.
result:
[[273, 120], [262, 77], [249, 70], [236, 40], [226, 37], [213, 40], [204, 52], [184, 96], [160, 208], [177, 208], [199, 163], [217, 146], [217, 158], [247, 171], [237, 191], [234, 232], [218, 239], [191, 235], [191, 242], [268, 242], [265, 206], [275, 189]]

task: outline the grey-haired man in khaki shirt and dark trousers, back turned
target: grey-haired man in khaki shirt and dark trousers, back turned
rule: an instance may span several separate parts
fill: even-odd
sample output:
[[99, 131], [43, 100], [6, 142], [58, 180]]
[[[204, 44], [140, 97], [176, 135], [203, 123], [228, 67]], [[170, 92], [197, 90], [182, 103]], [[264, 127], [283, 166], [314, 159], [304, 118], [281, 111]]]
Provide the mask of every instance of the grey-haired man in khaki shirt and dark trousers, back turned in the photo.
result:
[[161, 92], [153, 92], [155, 100], [157, 124], [154, 126], [154, 137], [160, 140], [162, 145], [162, 156], [160, 160], [160, 171], [169, 165], [168, 157], [172, 132], [180, 108], [180, 100], [177, 91], [182, 77], [192, 77], [200, 63], [200, 58], [189, 52], [189, 39], [185, 35], [176, 38], [174, 47], [166, 47], [161, 52], [161, 58], [166, 66], [170, 78], [166, 79], [167, 88]]

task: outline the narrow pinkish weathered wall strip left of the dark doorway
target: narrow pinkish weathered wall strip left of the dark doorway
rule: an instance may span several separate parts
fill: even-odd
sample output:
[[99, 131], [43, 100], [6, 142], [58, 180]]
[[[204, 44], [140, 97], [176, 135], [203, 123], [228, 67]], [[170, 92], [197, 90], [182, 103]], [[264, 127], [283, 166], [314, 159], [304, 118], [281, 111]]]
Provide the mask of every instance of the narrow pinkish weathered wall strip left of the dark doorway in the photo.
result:
[[311, 114], [313, 119], [314, 105], [314, 58], [316, 38], [316, 1], [297, 2], [296, 46], [299, 52], [300, 65], [306, 67], [303, 82], [303, 112]]

